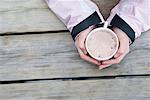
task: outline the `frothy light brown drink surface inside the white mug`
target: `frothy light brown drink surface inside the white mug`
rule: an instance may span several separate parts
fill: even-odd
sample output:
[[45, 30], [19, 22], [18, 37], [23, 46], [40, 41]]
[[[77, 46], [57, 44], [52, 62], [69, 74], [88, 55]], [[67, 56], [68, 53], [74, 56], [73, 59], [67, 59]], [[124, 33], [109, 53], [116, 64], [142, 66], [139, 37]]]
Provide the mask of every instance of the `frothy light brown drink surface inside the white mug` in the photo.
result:
[[96, 58], [107, 58], [116, 51], [116, 48], [117, 40], [110, 31], [96, 31], [88, 37], [87, 49]]

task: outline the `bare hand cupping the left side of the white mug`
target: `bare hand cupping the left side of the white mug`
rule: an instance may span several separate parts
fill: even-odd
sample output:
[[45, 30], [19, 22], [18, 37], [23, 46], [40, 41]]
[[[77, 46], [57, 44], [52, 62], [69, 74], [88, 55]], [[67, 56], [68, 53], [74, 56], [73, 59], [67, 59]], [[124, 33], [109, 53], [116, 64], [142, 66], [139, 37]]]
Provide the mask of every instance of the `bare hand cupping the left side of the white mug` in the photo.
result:
[[91, 58], [90, 56], [88, 56], [87, 55], [87, 50], [86, 50], [86, 47], [85, 47], [86, 37], [92, 31], [93, 28], [94, 28], [94, 26], [91, 26], [88, 29], [85, 29], [84, 31], [80, 32], [79, 35], [76, 37], [75, 46], [78, 50], [78, 53], [79, 53], [80, 57], [83, 60], [86, 60], [88, 62], [91, 62], [91, 63], [96, 64], [96, 65], [99, 66], [100, 62], [93, 59], [93, 58]]

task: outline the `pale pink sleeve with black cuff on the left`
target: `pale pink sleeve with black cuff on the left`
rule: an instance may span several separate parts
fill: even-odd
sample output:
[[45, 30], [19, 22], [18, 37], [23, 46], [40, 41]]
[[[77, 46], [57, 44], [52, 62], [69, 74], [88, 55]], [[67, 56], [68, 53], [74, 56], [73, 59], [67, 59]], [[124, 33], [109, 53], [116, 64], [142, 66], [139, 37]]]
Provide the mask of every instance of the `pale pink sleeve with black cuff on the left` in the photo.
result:
[[67, 26], [73, 39], [86, 28], [104, 22], [91, 0], [45, 0], [49, 8]]

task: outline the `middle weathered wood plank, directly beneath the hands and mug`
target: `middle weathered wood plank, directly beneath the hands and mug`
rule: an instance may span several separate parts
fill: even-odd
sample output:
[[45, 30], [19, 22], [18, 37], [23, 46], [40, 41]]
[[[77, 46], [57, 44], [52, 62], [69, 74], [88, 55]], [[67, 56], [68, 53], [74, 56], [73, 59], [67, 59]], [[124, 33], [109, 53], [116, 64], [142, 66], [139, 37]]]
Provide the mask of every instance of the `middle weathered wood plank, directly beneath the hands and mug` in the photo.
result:
[[0, 37], [0, 81], [149, 73], [149, 32], [135, 41], [121, 64], [101, 71], [79, 58], [69, 33]]

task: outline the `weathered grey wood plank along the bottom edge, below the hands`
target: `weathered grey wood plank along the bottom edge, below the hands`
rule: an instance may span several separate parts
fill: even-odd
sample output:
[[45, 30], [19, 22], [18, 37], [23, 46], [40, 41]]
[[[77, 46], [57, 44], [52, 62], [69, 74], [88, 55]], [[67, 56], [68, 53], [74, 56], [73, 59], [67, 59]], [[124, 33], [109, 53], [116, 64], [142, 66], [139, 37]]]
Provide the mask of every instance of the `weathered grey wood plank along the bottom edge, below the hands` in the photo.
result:
[[0, 85], [0, 100], [149, 100], [150, 78]]

